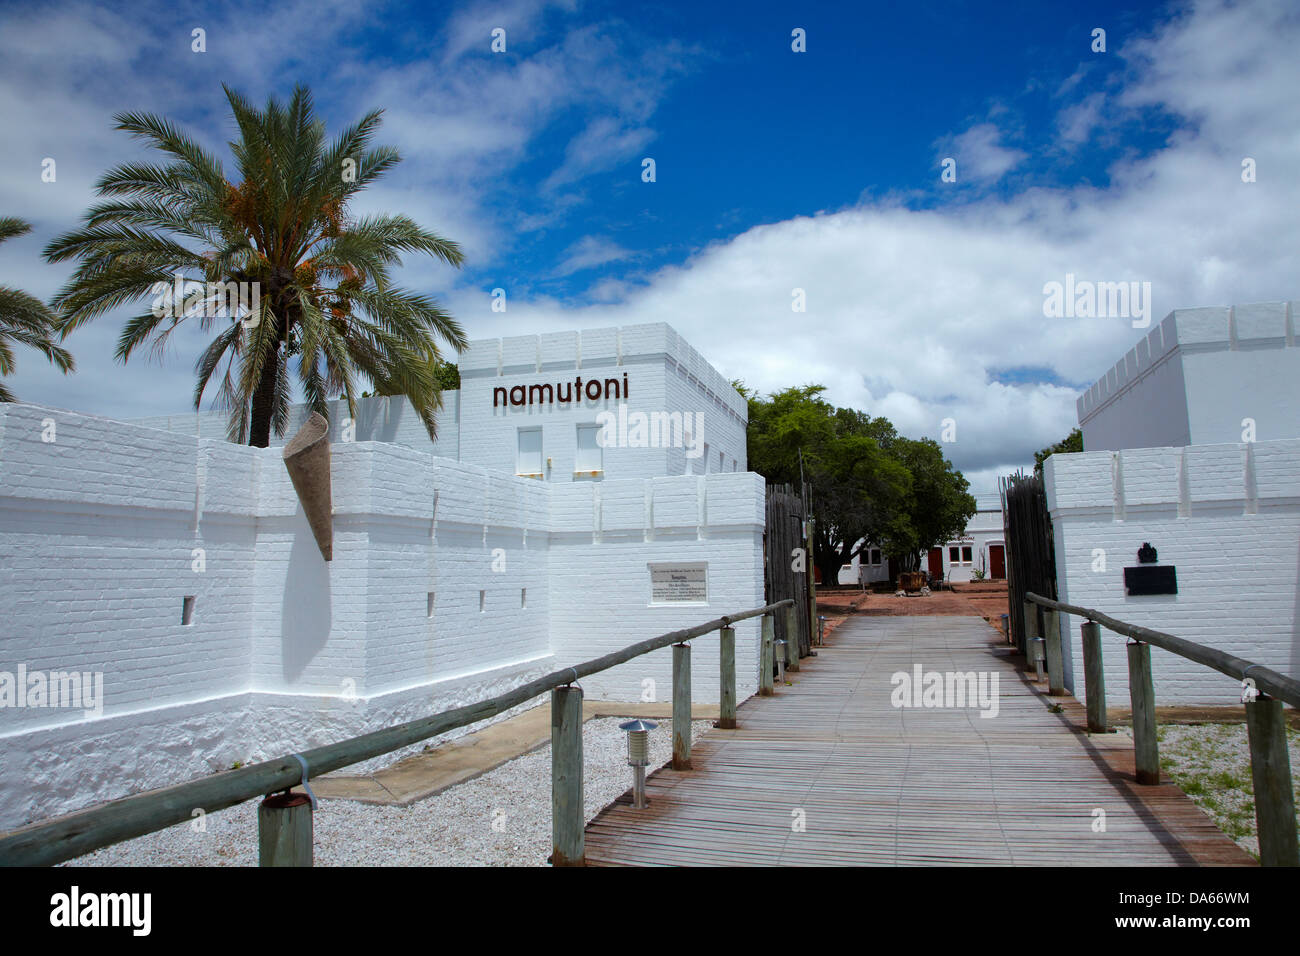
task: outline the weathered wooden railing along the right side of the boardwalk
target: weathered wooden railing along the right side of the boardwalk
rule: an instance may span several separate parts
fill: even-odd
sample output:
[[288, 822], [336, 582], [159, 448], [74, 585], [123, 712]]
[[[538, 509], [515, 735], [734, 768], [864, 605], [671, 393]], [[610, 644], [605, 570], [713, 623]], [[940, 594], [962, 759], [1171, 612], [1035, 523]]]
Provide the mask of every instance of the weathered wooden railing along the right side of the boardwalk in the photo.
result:
[[[1101, 666], [1101, 626], [1130, 639], [1128, 697], [1132, 705], [1134, 758], [1138, 783], [1160, 783], [1160, 752], [1156, 737], [1156, 693], [1152, 683], [1150, 648], [1186, 657], [1243, 682], [1249, 678], [1257, 696], [1245, 705], [1251, 744], [1251, 777], [1254, 783], [1254, 819], [1260, 836], [1260, 862], [1265, 866], [1300, 866], [1296, 838], [1295, 795], [1291, 790], [1291, 760], [1287, 753], [1283, 702], [1300, 708], [1300, 680], [1258, 663], [1175, 637], [1171, 633], [1117, 620], [1108, 614], [1062, 604], [1035, 594], [1024, 596], [1026, 646], [1031, 662], [1046, 658], [1049, 693], [1065, 695], [1060, 614], [1086, 618], [1080, 627], [1088, 730], [1106, 732], [1106, 680]], [[1036, 652], [1043, 645], [1043, 654]]]

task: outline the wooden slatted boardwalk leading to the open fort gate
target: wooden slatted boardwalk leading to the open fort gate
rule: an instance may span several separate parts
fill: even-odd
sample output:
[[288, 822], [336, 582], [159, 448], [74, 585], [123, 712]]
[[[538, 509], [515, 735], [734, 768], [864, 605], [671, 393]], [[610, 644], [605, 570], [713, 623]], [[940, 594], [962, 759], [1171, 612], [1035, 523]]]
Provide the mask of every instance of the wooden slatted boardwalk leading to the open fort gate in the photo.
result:
[[[654, 774], [649, 808], [593, 819], [588, 864], [1253, 864], [1176, 787], [1134, 783], [1131, 740], [1088, 735], [982, 619], [853, 618], [831, 640], [698, 740], [692, 770]], [[996, 674], [997, 715], [893, 706], [916, 663]]]

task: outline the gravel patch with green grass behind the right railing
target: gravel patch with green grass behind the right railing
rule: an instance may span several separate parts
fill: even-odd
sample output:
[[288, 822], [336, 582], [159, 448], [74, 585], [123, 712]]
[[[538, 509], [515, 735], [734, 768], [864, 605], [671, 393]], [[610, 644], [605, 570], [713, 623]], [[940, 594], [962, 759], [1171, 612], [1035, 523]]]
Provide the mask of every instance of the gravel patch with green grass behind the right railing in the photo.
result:
[[[1119, 727], [1132, 736], [1131, 727]], [[1260, 858], [1254, 832], [1254, 784], [1244, 723], [1170, 723], [1157, 730], [1160, 766], [1214, 825], [1242, 849]], [[1300, 731], [1287, 728], [1291, 782], [1296, 790], [1300, 827]]]

